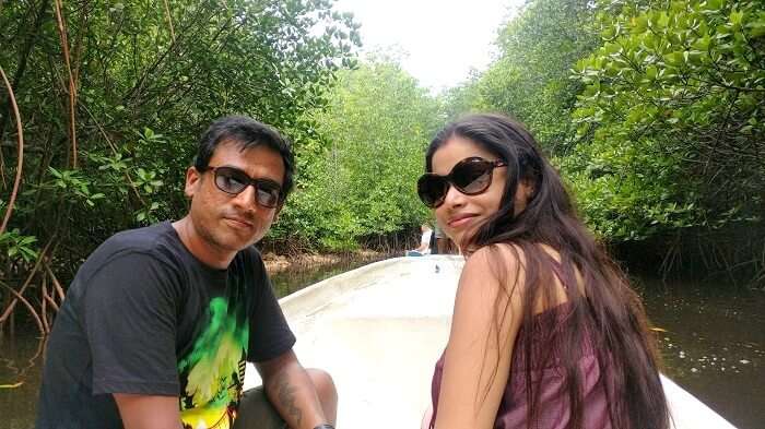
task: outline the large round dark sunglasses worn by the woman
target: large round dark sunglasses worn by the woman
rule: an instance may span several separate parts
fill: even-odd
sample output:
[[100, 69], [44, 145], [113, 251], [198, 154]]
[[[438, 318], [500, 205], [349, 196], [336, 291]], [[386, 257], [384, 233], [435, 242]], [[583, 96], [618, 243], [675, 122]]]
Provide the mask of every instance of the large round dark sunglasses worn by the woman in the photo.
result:
[[437, 208], [444, 204], [449, 184], [466, 195], [478, 195], [492, 184], [492, 171], [507, 166], [501, 159], [486, 160], [478, 156], [464, 158], [455, 164], [446, 176], [426, 172], [417, 180], [417, 194], [425, 205]]

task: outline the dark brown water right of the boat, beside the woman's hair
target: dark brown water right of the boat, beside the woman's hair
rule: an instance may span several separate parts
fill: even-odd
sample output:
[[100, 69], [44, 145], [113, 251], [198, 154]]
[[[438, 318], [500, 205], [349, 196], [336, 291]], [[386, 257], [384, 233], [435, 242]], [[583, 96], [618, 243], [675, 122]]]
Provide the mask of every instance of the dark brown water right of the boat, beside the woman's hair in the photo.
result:
[[643, 279], [664, 372], [741, 429], [765, 427], [765, 294]]

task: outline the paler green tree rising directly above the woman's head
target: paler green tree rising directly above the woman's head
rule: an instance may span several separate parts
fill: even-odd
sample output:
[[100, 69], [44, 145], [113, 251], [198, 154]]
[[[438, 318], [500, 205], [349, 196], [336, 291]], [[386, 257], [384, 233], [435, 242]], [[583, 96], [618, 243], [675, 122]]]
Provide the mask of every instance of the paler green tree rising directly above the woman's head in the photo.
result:
[[501, 111], [523, 122], [550, 152], [565, 152], [580, 85], [569, 70], [597, 43], [593, 9], [586, 0], [536, 0], [520, 9], [497, 37], [499, 58], [473, 82], [470, 110]]

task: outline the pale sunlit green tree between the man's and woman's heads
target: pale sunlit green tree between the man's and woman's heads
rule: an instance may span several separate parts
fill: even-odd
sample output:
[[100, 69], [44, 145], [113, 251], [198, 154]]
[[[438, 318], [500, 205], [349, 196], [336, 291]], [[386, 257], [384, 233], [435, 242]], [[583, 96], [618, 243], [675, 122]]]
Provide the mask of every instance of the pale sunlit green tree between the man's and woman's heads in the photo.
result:
[[414, 183], [438, 126], [435, 99], [396, 63], [374, 59], [341, 72], [331, 99], [311, 114], [326, 139], [298, 153], [298, 190], [274, 234], [344, 250], [419, 225], [427, 211]]

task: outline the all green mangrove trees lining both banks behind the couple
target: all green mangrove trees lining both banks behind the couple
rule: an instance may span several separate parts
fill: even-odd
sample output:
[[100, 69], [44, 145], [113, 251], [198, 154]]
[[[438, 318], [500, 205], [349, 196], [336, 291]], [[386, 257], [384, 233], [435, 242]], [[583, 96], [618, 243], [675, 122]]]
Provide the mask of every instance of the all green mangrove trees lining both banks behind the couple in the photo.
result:
[[0, 325], [22, 308], [47, 331], [101, 241], [181, 216], [196, 139], [228, 114], [294, 141], [279, 252], [403, 247], [434, 131], [499, 111], [605, 242], [765, 285], [760, 1], [529, 0], [491, 65], [436, 95], [360, 57], [331, 0], [0, 1]]

